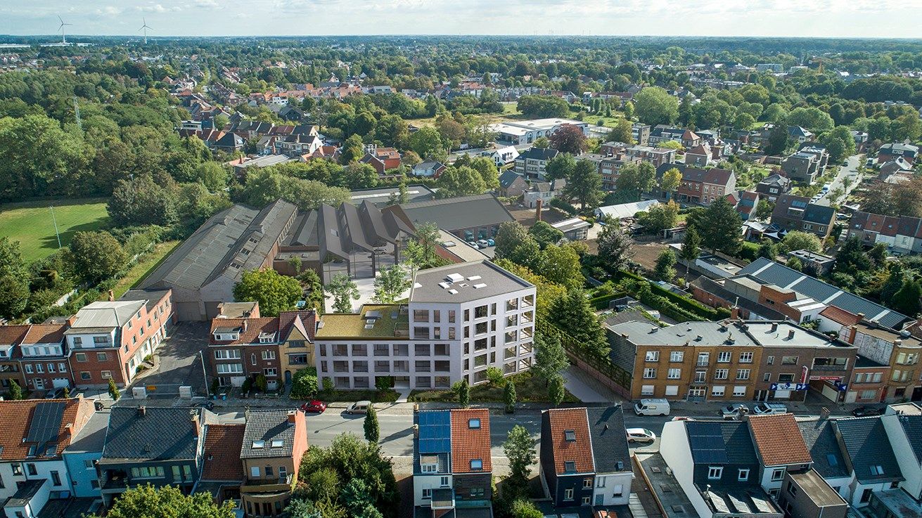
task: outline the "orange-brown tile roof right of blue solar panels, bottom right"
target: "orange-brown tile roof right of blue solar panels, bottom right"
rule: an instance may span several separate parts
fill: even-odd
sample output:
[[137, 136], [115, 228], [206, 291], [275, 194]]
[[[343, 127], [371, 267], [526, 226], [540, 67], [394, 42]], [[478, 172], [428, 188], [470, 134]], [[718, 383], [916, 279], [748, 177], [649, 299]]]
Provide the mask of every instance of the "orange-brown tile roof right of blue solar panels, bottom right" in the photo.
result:
[[807, 464], [813, 459], [794, 414], [750, 416], [750, 430], [764, 465]]

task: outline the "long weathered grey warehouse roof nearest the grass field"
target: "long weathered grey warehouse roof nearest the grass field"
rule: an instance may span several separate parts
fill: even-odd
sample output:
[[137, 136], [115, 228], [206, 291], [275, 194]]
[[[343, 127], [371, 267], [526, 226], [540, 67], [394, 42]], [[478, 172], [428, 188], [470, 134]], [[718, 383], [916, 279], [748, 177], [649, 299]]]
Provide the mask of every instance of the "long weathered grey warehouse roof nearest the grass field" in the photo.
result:
[[198, 289], [221, 276], [236, 280], [258, 269], [298, 210], [277, 200], [262, 210], [231, 206], [208, 218], [141, 284]]

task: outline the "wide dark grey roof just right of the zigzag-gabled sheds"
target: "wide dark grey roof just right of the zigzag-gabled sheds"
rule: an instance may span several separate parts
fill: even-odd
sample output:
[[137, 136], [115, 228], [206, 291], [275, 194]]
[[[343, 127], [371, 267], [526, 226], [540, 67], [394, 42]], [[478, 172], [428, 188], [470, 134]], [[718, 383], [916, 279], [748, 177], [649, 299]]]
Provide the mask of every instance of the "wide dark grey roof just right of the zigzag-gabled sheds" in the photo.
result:
[[413, 225], [432, 222], [445, 230], [489, 227], [514, 220], [512, 214], [492, 194], [408, 203], [399, 208]]

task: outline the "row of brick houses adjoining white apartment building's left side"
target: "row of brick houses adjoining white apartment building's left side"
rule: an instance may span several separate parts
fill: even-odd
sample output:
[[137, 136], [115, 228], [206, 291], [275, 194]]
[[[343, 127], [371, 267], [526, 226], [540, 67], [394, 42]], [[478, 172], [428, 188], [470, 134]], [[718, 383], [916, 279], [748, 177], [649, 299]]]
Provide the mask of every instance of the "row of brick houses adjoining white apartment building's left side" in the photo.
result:
[[261, 317], [254, 304], [254, 310], [243, 316], [225, 312], [228, 306], [211, 321], [208, 335], [209, 377], [219, 386], [241, 386], [263, 375], [267, 388], [274, 390], [279, 383], [290, 383], [294, 372], [313, 366], [316, 312]]

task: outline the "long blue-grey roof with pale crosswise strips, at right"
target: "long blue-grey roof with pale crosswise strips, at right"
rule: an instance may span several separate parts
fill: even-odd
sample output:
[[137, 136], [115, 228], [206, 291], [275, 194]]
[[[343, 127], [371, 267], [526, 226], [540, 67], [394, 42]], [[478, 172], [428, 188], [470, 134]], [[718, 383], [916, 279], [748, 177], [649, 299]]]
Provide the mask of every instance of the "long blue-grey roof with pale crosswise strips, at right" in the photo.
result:
[[862, 313], [867, 320], [892, 329], [902, 329], [904, 324], [911, 320], [903, 313], [894, 312], [880, 304], [848, 293], [843, 289], [835, 288], [822, 282], [822, 280], [802, 274], [765, 257], [760, 257], [746, 265], [739, 271], [739, 275], [751, 275], [766, 284], [793, 289], [813, 300], [829, 306], [835, 306], [846, 312]]

